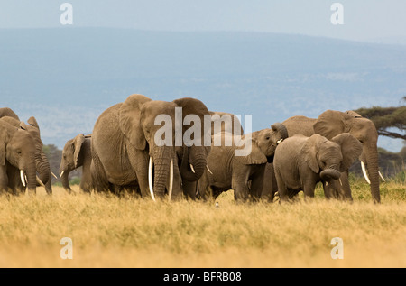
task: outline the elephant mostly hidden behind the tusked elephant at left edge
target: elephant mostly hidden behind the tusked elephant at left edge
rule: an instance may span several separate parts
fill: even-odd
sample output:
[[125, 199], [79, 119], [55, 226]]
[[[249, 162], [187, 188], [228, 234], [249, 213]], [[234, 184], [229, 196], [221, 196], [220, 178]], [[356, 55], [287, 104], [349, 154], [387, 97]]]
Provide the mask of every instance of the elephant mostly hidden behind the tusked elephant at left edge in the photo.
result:
[[[5, 108], [3, 108], [3, 109], [5, 109]], [[5, 112], [3, 112], [3, 113], [5, 114]], [[10, 113], [8, 113], [8, 114], [10, 114]], [[34, 139], [35, 150], [36, 150], [36, 152], [35, 152], [36, 170], [38, 172], [39, 179], [42, 181], [42, 183], [45, 186], [45, 190], [46, 190], [47, 194], [51, 194], [52, 193], [51, 167], [50, 167], [50, 162], [48, 161], [47, 156], [42, 151], [43, 144], [42, 144], [42, 140], [41, 140], [40, 126], [38, 125], [37, 120], [33, 116], [27, 120], [28, 125], [23, 123], [22, 121], [20, 121], [18, 119], [18, 116], [16, 116], [16, 118], [15, 118], [15, 116], [12, 117], [12, 116], [7, 115], [4, 117], [1, 117], [1, 120], [4, 120], [7, 123], [9, 123], [10, 125], [14, 125], [17, 128], [21, 128], [21, 129], [27, 131], [29, 134], [32, 134], [32, 138]]]

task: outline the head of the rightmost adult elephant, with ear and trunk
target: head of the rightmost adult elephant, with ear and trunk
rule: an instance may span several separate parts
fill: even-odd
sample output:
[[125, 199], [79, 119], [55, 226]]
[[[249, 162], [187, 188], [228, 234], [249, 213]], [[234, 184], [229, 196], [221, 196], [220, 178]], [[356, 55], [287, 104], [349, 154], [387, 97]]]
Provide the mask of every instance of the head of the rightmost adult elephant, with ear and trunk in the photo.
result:
[[318, 116], [313, 129], [316, 134], [321, 134], [328, 139], [332, 139], [337, 134], [349, 133], [362, 143], [362, 153], [359, 160], [366, 165], [374, 202], [381, 202], [377, 149], [378, 133], [374, 123], [354, 111], [344, 113], [327, 110]]

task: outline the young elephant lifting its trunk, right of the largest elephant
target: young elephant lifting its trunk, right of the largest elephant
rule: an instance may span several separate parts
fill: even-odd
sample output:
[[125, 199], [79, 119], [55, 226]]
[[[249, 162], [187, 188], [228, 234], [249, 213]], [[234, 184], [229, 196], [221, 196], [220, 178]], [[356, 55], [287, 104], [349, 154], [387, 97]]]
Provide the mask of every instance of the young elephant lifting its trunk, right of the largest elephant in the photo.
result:
[[[221, 144], [216, 143], [216, 136], [223, 136]], [[209, 169], [198, 181], [198, 193], [202, 198], [217, 198], [228, 189], [234, 189], [235, 200], [260, 198], [266, 162], [272, 161], [277, 144], [287, 138], [288, 133], [283, 125], [276, 123], [271, 128], [243, 135], [243, 146], [251, 140], [251, 152], [246, 155], [236, 155], [235, 152], [242, 149], [241, 143], [235, 141], [236, 137], [239, 136], [213, 136], [211, 152], [208, 155]], [[227, 139], [233, 144], [227, 145]]]

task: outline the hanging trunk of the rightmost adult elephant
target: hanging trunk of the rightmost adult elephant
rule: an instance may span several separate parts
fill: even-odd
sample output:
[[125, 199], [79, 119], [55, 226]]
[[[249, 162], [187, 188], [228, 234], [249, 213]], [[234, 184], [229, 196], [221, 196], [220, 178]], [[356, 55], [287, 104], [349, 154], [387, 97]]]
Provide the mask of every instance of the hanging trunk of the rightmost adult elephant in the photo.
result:
[[381, 202], [381, 195], [379, 192], [379, 165], [378, 165], [378, 151], [377, 148], [367, 147], [364, 148], [364, 163], [366, 164], [366, 170], [368, 171], [368, 177], [371, 183], [371, 196], [374, 199], [374, 203]]

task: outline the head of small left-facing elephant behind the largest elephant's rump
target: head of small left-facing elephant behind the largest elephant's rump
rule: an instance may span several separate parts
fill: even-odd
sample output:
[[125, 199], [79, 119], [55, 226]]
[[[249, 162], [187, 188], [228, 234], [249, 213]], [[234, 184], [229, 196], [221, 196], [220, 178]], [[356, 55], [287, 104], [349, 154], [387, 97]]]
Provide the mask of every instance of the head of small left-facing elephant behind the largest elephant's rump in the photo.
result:
[[63, 147], [62, 159], [60, 161], [60, 181], [62, 182], [63, 188], [69, 193], [71, 192], [69, 186], [69, 172], [83, 164], [83, 158], [80, 154], [85, 140], [86, 137], [84, 134], [78, 134], [75, 138], [65, 143]]

